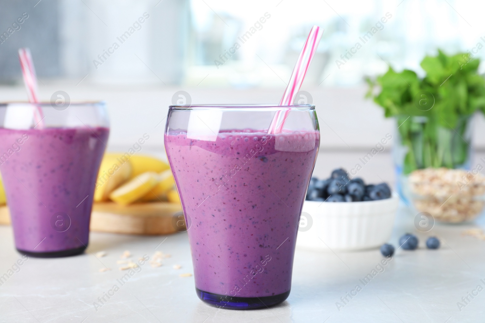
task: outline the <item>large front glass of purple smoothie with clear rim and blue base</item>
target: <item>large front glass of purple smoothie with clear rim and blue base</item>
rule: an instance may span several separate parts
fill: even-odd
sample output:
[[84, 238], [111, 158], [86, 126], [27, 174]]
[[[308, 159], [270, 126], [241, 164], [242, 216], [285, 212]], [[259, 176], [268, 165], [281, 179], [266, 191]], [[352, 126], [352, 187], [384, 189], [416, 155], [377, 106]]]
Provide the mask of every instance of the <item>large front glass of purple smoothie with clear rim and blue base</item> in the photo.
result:
[[[282, 111], [283, 128], [269, 134]], [[288, 297], [318, 129], [312, 105], [170, 107], [165, 151], [201, 300], [246, 309]]]

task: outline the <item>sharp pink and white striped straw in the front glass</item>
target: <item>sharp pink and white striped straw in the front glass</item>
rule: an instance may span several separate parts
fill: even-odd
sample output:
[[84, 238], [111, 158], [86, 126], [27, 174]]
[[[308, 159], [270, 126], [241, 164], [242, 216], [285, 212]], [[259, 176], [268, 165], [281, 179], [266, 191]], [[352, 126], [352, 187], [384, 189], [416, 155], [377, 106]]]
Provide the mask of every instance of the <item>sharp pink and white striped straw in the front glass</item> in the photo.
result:
[[[317, 51], [320, 38], [322, 38], [323, 28], [313, 26], [308, 34], [307, 41], [303, 45], [303, 49], [296, 61], [293, 73], [291, 73], [290, 82], [286, 87], [285, 93], [281, 98], [278, 106], [291, 106], [295, 100], [296, 94], [300, 91], [305, 75], [307, 74], [308, 66]], [[290, 114], [290, 110], [278, 110], [271, 121], [268, 129], [269, 134], [279, 133], [283, 130], [286, 118]]]

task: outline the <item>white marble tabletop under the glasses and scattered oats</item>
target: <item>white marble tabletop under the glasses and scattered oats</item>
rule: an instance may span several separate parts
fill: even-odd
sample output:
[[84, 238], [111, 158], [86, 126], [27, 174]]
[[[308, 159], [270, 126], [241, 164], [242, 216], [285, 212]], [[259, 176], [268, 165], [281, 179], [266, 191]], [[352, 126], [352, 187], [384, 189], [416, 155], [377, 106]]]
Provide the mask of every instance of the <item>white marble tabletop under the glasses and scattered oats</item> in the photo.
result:
[[[402, 208], [391, 243], [396, 245], [405, 231], [417, 232], [412, 220]], [[485, 226], [484, 220], [476, 223]], [[30, 258], [19, 266], [0, 286], [0, 322], [484, 322], [485, 291], [473, 299], [468, 292], [477, 285], [485, 288], [485, 241], [461, 235], [477, 224], [436, 225], [433, 234], [446, 241], [439, 250], [423, 248], [427, 235], [417, 234], [420, 248], [398, 250], [384, 272], [365, 286], [359, 279], [383, 259], [378, 250], [297, 248], [290, 297], [279, 306], [250, 311], [210, 307], [195, 295], [194, 277], [178, 276], [192, 273], [186, 233], [91, 233], [89, 251], [81, 256]], [[93, 253], [101, 250], [107, 255], [98, 259]], [[116, 264], [124, 250], [135, 260], [144, 254], [151, 257], [156, 250], [172, 257], [158, 268], [142, 266], [96, 311], [93, 303], [125, 274]], [[0, 276], [20, 257], [11, 228], [0, 226]], [[173, 269], [174, 264], [182, 268]], [[105, 265], [113, 270], [99, 272]], [[352, 299], [347, 296], [349, 302], [338, 309], [336, 302], [343, 304], [340, 297], [357, 284], [362, 290]], [[467, 296], [469, 302], [460, 311], [457, 302]]]

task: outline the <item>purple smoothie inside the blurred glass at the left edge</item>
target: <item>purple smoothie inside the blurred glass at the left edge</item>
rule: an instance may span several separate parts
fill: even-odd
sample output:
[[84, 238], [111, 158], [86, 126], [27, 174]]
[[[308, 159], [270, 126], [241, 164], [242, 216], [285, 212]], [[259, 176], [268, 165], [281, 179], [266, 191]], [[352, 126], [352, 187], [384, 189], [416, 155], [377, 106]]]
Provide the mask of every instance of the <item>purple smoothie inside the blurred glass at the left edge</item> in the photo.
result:
[[87, 246], [108, 134], [104, 127], [0, 128], [0, 170], [18, 250]]

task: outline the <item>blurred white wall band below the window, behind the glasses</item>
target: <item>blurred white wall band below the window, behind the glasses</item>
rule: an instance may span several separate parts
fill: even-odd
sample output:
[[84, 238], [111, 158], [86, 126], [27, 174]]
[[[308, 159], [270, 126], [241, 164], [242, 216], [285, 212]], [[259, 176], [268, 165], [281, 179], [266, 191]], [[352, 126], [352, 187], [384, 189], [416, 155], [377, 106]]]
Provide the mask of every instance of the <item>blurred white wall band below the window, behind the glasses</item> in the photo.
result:
[[[124, 150], [144, 133], [148, 133], [152, 137], [145, 148], [163, 152], [164, 118], [173, 94], [179, 90], [189, 92], [193, 104], [275, 103], [283, 92], [283, 89], [204, 89], [202, 84], [195, 88], [102, 87], [89, 85], [85, 80], [76, 86], [77, 82], [79, 80], [56, 84], [45, 82], [46, 86], [39, 85], [40, 96], [49, 101], [53, 92], [63, 90], [70, 95], [71, 101], [106, 100], [111, 118], [110, 150]], [[385, 119], [382, 109], [364, 98], [364, 87], [305, 90], [313, 96], [316, 105], [322, 138], [321, 150], [364, 152], [387, 133], [393, 133], [393, 121]], [[0, 87], [0, 101], [25, 99], [23, 87]], [[472, 146], [485, 150], [485, 120], [480, 116], [476, 121]]]

